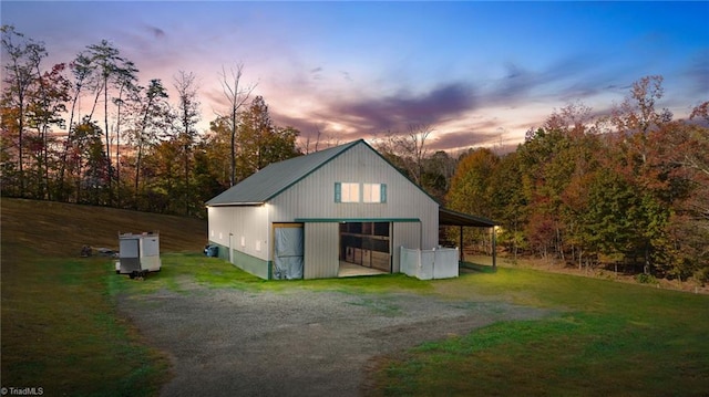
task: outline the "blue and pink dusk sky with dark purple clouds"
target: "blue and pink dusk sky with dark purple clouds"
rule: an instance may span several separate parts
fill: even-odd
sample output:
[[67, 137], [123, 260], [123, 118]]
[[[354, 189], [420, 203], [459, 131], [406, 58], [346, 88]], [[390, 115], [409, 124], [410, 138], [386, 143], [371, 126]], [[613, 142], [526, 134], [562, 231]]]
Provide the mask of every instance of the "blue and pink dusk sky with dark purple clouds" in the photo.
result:
[[516, 145], [556, 108], [606, 113], [646, 75], [676, 118], [709, 100], [709, 2], [34, 2], [1, 20], [53, 63], [109, 40], [143, 85], [199, 81], [203, 129], [244, 65], [275, 123], [340, 143], [431, 125], [431, 149]]

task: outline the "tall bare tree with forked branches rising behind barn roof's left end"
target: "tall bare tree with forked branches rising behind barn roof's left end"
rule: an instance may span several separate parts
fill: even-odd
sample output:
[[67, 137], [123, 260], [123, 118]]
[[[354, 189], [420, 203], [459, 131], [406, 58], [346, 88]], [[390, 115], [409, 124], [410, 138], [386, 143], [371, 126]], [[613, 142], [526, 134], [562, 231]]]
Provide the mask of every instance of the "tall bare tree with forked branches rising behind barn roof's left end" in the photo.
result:
[[[229, 186], [236, 185], [236, 132], [238, 130], [239, 109], [248, 101], [251, 92], [256, 88], [256, 84], [243, 85], [242, 76], [244, 75], [244, 64], [239, 63], [236, 69], [229, 69], [227, 74], [224, 66], [222, 66], [222, 74], [219, 75], [222, 90], [224, 96], [229, 102], [228, 119], [232, 129], [232, 173], [229, 177]], [[222, 116], [222, 115], [220, 115]]]

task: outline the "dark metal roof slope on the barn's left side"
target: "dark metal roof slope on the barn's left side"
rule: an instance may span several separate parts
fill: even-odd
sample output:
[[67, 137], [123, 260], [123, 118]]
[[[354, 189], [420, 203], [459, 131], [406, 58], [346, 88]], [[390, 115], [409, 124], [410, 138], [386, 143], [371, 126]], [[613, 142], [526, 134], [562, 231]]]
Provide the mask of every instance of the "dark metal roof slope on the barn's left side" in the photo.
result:
[[278, 196], [363, 139], [273, 163], [207, 201], [207, 206], [259, 205]]

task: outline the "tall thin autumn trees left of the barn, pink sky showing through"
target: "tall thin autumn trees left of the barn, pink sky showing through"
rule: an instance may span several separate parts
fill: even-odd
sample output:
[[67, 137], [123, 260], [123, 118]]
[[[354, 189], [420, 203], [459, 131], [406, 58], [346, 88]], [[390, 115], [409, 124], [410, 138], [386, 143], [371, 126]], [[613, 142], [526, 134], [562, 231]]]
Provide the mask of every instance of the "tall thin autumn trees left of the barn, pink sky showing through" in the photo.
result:
[[220, 76], [229, 108], [198, 132], [194, 73], [141, 85], [135, 63], [103, 40], [47, 67], [42, 42], [2, 25], [2, 195], [205, 216], [204, 202], [269, 163], [300, 154], [243, 65]]

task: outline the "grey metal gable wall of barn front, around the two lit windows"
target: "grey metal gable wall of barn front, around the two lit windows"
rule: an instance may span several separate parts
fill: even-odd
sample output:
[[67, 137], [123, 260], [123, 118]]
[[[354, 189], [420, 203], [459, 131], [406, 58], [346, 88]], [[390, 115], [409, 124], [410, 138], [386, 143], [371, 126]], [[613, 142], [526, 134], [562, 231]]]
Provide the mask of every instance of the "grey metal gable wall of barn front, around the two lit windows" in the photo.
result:
[[[386, 184], [387, 202], [335, 202], [335, 182]], [[423, 232], [409, 248], [438, 245], [439, 205], [367, 145], [357, 145], [271, 200], [273, 221], [418, 219]]]

